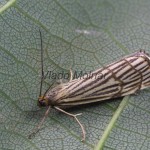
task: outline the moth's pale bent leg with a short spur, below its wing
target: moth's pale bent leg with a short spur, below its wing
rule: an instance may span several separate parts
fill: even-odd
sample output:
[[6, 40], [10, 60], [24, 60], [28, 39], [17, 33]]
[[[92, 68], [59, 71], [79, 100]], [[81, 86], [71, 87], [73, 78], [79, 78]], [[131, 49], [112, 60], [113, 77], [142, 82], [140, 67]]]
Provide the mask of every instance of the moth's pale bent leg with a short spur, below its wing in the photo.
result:
[[62, 110], [59, 107], [54, 106], [54, 108], [57, 109], [60, 112], [63, 112], [64, 114], [66, 114], [68, 116], [73, 117], [77, 121], [77, 123], [79, 124], [79, 126], [81, 127], [81, 130], [82, 130], [82, 140], [81, 141], [85, 141], [85, 134], [86, 134], [85, 129], [84, 129], [83, 125], [81, 124], [81, 122], [77, 118], [77, 116], [81, 115], [81, 113], [80, 114], [71, 114], [71, 113], [68, 113], [68, 112]]

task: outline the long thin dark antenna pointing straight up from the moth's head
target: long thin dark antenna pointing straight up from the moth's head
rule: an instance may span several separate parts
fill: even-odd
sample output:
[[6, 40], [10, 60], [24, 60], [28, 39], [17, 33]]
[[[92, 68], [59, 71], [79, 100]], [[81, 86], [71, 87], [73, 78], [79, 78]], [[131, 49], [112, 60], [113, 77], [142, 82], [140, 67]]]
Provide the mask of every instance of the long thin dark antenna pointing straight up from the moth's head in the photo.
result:
[[41, 84], [40, 84], [40, 94], [39, 94], [39, 97], [40, 97], [42, 94], [44, 71], [43, 71], [43, 41], [42, 41], [42, 33], [40, 29], [39, 29], [39, 32], [40, 32], [40, 40], [41, 40]]

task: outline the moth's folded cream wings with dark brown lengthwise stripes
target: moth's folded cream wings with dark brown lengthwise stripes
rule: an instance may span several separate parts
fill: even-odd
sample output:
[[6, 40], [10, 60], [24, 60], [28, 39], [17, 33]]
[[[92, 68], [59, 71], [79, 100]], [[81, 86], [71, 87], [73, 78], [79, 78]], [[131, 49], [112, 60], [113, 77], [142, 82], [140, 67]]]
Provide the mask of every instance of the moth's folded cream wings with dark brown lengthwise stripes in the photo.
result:
[[[97, 74], [103, 78], [96, 78]], [[150, 58], [138, 52], [92, 73], [92, 78], [73, 80], [60, 91], [59, 105], [79, 105], [121, 97], [150, 86]]]

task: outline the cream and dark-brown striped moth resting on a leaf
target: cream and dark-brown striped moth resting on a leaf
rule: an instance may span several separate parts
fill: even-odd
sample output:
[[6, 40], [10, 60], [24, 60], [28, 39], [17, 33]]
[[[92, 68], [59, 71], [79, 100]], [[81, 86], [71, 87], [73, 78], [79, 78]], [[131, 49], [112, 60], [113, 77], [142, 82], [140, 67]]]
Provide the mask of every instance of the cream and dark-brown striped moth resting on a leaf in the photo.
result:
[[[42, 35], [41, 37], [41, 62], [43, 62]], [[97, 74], [102, 74], [103, 78], [96, 78]], [[42, 64], [43, 76], [43, 64]], [[43, 79], [41, 79], [42, 87]], [[38, 98], [40, 107], [48, 107], [42, 121], [36, 128], [36, 133], [51, 108], [61, 111], [73, 117], [82, 130], [82, 141], [85, 140], [85, 129], [77, 116], [81, 114], [71, 114], [63, 108], [104, 101], [133, 94], [138, 90], [150, 87], [150, 57], [144, 50], [121, 58], [119, 61], [111, 63], [92, 73], [92, 77], [81, 77], [71, 79], [67, 83], [62, 83], [52, 89], [48, 89], [43, 96]]]

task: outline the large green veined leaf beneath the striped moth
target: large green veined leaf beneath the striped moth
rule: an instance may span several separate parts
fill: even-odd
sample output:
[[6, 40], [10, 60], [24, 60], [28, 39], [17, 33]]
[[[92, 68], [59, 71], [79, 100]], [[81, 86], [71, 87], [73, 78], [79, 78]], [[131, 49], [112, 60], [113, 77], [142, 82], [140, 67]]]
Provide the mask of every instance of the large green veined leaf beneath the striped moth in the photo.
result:
[[[1, 4], [1, 3], [0, 3]], [[44, 72], [89, 72], [132, 52], [150, 53], [150, 1], [3, 1], [0, 6], [0, 149], [150, 149], [150, 90], [70, 108], [86, 128], [37, 106], [43, 37]], [[46, 78], [43, 93], [54, 79]]]

